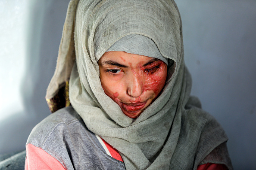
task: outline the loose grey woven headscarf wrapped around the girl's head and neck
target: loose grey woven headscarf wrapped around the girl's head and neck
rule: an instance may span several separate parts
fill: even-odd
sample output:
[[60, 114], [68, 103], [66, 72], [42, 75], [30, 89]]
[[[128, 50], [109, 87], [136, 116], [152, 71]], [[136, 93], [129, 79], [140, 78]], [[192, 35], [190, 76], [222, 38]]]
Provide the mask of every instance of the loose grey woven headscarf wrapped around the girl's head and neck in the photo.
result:
[[[135, 121], [104, 93], [97, 64], [114, 43], [132, 34], [151, 39], [169, 63], [162, 94]], [[227, 141], [215, 119], [190, 97], [181, 18], [173, 0], [71, 0], [46, 98], [69, 77], [72, 106], [90, 131], [120, 152], [128, 170], [195, 170]], [[227, 160], [212, 163], [230, 166]]]

